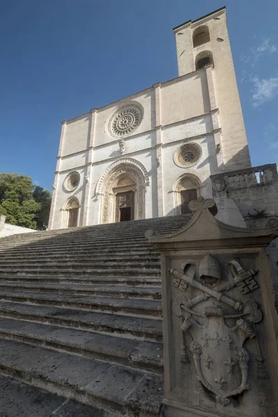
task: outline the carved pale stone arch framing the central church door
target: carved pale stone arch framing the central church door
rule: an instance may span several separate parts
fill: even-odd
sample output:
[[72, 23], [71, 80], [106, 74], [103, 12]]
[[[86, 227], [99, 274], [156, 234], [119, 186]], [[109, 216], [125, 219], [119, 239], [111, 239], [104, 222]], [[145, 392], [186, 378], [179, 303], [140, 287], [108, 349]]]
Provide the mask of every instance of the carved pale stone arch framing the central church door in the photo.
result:
[[133, 181], [134, 220], [145, 218], [145, 188], [149, 186], [149, 174], [136, 159], [122, 158], [109, 165], [97, 183], [96, 195], [101, 196], [101, 224], [115, 222], [115, 195], [126, 190], [126, 186], [121, 190], [118, 186], [124, 177]]

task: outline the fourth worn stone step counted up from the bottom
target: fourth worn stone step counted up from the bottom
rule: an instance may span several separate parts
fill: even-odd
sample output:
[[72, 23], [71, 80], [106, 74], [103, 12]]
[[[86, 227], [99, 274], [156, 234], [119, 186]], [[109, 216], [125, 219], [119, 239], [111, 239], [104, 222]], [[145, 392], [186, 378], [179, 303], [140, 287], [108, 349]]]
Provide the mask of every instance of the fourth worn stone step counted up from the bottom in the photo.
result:
[[8, 301], [0, 301], [0, 316], [77, 330], [83, 329], [87, 332], [101, 332], [140, 341], [162, 341], [162, 322], [159, 318], [120, 316], [111, 313], [65, 309], [60, 306]]

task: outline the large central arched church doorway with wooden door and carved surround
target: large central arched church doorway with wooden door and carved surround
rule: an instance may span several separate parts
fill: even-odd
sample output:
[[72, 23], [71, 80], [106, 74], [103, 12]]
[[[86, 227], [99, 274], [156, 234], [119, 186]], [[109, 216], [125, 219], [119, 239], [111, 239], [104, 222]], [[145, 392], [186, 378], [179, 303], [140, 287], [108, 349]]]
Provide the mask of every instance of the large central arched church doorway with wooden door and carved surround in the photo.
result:
[[100, 223], [145, 218], [145, 188], [149, 175], [144, 165], [133, 158], [123, 158], [107, 168], [97, 184], [101, 196]]

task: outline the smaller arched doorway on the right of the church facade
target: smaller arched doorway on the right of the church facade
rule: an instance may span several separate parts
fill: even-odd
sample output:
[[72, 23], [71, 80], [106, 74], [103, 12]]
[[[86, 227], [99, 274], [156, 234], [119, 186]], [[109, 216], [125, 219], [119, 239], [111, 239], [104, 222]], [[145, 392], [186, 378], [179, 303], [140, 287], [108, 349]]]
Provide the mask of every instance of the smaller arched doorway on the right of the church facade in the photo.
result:
[[200, 197], [201, 183], [193, 174], [185, 174], [174, 183], [174, 206], [176, 214], [191, 213], [189, 203]]

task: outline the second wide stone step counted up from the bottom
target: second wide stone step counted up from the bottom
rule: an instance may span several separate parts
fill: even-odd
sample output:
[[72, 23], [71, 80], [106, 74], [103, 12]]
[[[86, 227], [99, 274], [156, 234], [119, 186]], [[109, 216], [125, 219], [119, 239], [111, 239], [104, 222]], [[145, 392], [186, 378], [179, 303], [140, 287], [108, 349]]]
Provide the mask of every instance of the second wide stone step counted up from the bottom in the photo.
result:
[[119, 416], [158, 416], [163, 377], [145, 370], [0, 339], [0, 370], [8, 377]]

